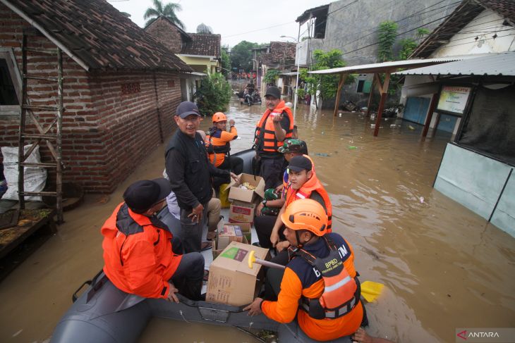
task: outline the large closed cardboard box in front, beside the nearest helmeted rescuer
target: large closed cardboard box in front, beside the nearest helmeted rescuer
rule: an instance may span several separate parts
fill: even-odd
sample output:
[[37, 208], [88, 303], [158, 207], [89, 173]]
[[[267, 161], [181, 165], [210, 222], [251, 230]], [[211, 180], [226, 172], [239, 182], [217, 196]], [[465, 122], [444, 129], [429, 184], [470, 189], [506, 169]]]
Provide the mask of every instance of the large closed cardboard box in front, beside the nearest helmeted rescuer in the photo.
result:
[[256, 258], [267, 258], [268, 249], [231, 242], [210, 266], [206, 301], [243, 306], [250, 304], [262, 285], [262, 266], [255, 263], [248, 268], [248, 254], [255, 251]]

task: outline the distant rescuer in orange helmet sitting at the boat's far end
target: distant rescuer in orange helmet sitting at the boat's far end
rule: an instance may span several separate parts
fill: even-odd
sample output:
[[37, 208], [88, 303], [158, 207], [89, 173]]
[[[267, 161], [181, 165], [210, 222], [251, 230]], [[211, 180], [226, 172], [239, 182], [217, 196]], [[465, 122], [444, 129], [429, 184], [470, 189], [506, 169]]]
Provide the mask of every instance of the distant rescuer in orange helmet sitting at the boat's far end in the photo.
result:
[[229, 120], [229, 132], [227, 132], [227, 117], [222, 112], [214, 113], [213, 127], [206, 132], [205, 143], [210, 162], [215, 167], [231, 170], [236, 175], [243, 171], [243, 159], [230, 155], [231, 141], [238, 138], [238, 131], [234, 126], [234, 120]]

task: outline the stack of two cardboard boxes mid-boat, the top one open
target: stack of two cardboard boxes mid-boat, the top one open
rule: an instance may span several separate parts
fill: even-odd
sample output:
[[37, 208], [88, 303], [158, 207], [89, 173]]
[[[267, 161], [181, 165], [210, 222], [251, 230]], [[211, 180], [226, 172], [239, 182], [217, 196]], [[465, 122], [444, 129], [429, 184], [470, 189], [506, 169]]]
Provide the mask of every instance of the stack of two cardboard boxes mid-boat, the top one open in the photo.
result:
[[[242, 188], [244, 184], [254, 189]], [[265, 180], [260, 176], [240, 174], [238, 182], [232, 180], [229, 186], [229, 200], [232, 201], [229, 222], [253, 223], [256, 201], [265, 196]]]

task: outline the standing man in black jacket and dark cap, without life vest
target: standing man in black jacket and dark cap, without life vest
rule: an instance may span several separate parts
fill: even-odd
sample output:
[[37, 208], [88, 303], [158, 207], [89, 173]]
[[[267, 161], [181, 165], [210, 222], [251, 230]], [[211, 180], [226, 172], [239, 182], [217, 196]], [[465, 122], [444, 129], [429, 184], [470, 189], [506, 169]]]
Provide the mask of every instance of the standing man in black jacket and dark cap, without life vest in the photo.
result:
[[183, 101], [174, 116], [178, 130], [165, 151], [166, 173], [181, 208], [181, 228], [171, 228], [183, 242], [186, 253], [202, 249], [202, 228], [207, 203], [212, 197], [212, 177], [236, 175], [214, 167], [207, 159], [204, 141], [197, 130], [200, 113], [193, 102]]

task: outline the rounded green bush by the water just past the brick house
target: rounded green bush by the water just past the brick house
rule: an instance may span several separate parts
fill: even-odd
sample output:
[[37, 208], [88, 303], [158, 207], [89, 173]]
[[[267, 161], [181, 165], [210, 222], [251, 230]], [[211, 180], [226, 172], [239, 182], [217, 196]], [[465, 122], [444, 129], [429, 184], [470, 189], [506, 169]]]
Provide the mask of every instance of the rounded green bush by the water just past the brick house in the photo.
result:
[[222, 73], [207, 72], [200, 82], [194, 98], [197, 101], [198, 110], [203, 116], [212, 116], [213, 113], [223, 112], [229, 105], [232, 89]]

